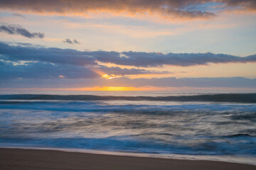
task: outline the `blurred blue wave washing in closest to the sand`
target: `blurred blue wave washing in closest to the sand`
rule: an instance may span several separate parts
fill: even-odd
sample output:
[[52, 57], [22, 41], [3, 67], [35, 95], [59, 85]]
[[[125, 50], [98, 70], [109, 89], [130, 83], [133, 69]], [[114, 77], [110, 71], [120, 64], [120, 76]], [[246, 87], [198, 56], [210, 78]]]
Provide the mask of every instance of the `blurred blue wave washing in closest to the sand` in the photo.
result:
[[[191, 139], [193, 140], [193, 139]], [[202, 140], [200, 137], [198, 140]], [[38, 146], [56, 148], [75, 148], [105, 150], [112, 152], [134, 152], [154, 154], [192, 154], [192, 155], [255, 155], [255, 142], [250, 138], [225, 140], [223, 137], [206, 137], [206, 140], [187, 145], [180, 142], [159, 142], [156, 140], [135, 140], [122, 137], [54, 137], [54, 138], [4, 138], [1, 144], [19, 146]]]

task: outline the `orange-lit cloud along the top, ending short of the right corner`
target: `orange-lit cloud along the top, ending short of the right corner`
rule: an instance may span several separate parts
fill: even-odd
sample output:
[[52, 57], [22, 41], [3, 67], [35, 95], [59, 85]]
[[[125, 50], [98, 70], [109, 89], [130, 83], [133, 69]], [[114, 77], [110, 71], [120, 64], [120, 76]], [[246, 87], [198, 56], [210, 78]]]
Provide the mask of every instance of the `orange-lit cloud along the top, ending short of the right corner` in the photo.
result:
[[0, 1], [0, 8], [28, 13], [88, 15], [88, 13], [111, 13], [122, 16], [161, 16], [164, 18], [209, 18], [215, 16], [209, 11], [186, 10], [187, 6], [197, 6], [204, 0], [9, 0]]

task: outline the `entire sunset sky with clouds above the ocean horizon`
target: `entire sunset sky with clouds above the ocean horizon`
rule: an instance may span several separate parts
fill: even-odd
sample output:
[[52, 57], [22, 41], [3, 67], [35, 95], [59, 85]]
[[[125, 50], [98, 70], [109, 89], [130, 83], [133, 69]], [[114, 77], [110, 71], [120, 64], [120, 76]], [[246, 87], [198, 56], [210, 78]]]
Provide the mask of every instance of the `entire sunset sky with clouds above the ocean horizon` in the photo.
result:
[[255, 91], [255, 28], [255, 0], [0, 0], [0, 91]]

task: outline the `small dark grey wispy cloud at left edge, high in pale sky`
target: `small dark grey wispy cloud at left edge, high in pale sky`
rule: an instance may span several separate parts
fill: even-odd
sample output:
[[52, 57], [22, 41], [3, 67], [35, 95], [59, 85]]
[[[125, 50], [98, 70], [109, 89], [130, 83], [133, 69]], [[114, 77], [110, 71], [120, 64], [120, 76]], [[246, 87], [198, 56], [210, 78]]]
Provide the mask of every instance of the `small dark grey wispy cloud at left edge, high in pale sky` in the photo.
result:
[[0, 32], [22, 35], [26, 38], [44, 38], [43, 33], [31, 33], [25, 28], [16, 25], [1, 25]]

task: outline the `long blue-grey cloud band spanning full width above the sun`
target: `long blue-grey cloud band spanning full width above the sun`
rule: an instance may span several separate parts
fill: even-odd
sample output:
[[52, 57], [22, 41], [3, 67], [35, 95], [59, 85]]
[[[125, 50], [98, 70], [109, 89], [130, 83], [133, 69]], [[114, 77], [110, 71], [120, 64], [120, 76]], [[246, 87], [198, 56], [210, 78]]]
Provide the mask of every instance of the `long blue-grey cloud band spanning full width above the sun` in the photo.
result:
[[71, 49], [36, 47], [33, 45], [9, 45], [0, 42], [0, 59], [12, 62], [41, 61], [55, 64], [98, 66], [97, 62], [132, 67], [160, 67], [164, 65], [189, 67], [210, 63], [256, 62], [256, 55], [238, 57], [213, 53], [161, 53], [161, 52], [107, 52], [78, 51]]

